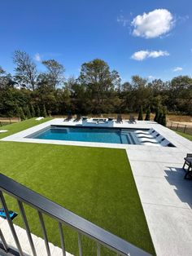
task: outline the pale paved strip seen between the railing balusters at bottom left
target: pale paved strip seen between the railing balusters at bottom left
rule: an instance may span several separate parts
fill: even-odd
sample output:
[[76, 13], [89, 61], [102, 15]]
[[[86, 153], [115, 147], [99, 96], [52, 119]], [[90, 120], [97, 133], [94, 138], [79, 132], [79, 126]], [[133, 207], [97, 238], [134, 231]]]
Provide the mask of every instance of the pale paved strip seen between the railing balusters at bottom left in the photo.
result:
[[[14, 224], [14, 227], [15, 227], [15, 232], [17, 233], [17, 236], [19, 238], [21, 248], [23, 249], [24, 255], [25, 256], [33, 255], [31, 247], [28, 242], [28, 236], [27, 236], [27, 233], [24, 230], [24, 228], [19, 227], [15, 224]], [[14, 249], [15, 251], [17, 251], [14, 238], [11, 234], [11, 230], [9, 228], [9, 225], [8, 225], [8, 222], [6, 219], [0, 218], [0, 228], [2, 230], [3, 236], [5, 237], [5, 239], [7, 241], [7, 245], [11, 249]], [[45, 241], [41, 237], [35, 236], [33, 234], [32, 234], [32, 238], [33, 238], [33, 243], [34, 243], [34, 246], [35, 246], [35, 249], [37, 252], [37, 256], [46, 256], [47, 253], [46, 253]], [[55, 246], [51, 243], [49, 243], [49, 245], [50, 245], [51, 256], [62, 256], [63, 255], [61, 248], [59, 248], [58, 246]], [[69, 254], [68, 252], [66, 252], [66, 255], [73, 256], [72, 254]]]

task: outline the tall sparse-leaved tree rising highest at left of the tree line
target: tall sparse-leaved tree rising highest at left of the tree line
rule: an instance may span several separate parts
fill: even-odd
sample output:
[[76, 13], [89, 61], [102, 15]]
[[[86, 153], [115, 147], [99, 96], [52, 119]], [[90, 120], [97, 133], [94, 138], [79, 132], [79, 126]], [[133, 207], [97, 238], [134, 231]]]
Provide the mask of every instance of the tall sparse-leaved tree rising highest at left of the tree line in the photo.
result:
[[37, 67], [32, 58], [25, 51], [15, 51], [13, 56], [15, 67], [15, 80], [27, 88], [35, 89], [37, 80]]

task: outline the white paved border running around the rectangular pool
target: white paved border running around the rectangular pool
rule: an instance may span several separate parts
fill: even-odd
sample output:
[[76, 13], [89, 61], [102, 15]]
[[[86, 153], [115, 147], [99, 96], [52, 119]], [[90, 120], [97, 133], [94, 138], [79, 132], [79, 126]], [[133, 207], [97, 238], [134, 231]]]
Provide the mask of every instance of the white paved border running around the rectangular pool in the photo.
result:
[[[167, 148], [167, 147], [155, 147], [155, 146], [146, 146], [146, 145], [139, 145], [139, 144], [118, 144], [118, 143], [94, 143], [94, 142], [80, 142], [80, 141], [63, 141], [63, 140], [56, 140], [56, 139], [32, 139], [32, 138], [25, 138], [33, 133], [36, 133], [38, 130], [46, 129], [48, 126], [79, 126], [81, 125], [81, 121], [74, 122], [74, 121], [63, 121], [63, 118], [55, 118], [50, 121], [46, 121], [40, 125], [33, 126], [28, 128], [27, 130], [20, 131], [15, 133], [14, 135], [7, 136], [2, 141], [15, 141], [15, 142], [25, 142], [25, 143], [50, 143], [50, 144], [59, 144], [59, 145], [73, 145], [73, 146], [83, 146], [83, 147], [98, 147], [98, 148], [129, 148], [129, 147], [152, 147], [152, 148]], [[99, 126], [99, 125], [98, 125]], [[98, 126], [91, 126], [91, 127], [98, 127]], [[88, 126], [85, 126], [88, 128]], [[103, 126], [104, 128], [104, 126]], [[154, 128], [160, 135], [163, 135], [165, 139], [168, 140], [178, 147], [187, 147], [185, 140], [179, 138], [176, 139], [175, 133], [172, 130], [164, 126], [160, 126], [154, 121], [137, 121], [136, 124], [129, 124], [128, 121], [124, 121], [121, 124], [114, 123], [114, 127], [107, 127], [105, 128], [132, 128], [132, 129], [151, 129]], [[169, 139], [170, 138], [170, 139]], [[173, 142], [174, 141], [174, 142]]]

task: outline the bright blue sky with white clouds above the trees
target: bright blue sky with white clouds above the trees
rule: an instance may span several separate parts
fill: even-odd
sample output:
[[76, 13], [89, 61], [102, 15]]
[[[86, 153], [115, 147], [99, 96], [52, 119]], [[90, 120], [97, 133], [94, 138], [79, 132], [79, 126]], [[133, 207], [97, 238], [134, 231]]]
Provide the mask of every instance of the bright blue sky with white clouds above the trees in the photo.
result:
[[40, 70], [39, 60], [58, 60], [66, 77], [77, 77], [94, 58], [107, 61], [123, 82], [134, 74], [192, 75], [191, 0], [7, 0], [0, 11], [0, 65], [8, 72], [19, 49]]

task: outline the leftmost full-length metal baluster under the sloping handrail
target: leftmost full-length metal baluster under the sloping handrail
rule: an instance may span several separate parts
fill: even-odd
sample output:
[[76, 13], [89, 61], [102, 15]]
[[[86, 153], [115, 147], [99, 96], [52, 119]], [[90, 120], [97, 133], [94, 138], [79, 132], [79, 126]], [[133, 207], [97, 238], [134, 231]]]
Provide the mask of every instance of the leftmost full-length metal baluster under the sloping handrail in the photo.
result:
[[9, 215], [9, 210], [7, 208], [5, 198], [2, 195], [2, 191], [0, 191], [0, 198], [1, 198], [1, 201], [2, 201], [2, 207], [4, 208], [5, 213], [6, 213], [7, 221], [9, 223], [9, 227], [11, 229], [12, 236], [15, 240], [16, 247], [19, 250], [20, 256], [24, 256], [23, 251], [22, 251], [21, 246], [20, 246], [20, 241], [19, 241], [19, 239], [17, 237], [17, 234], [15, 232], [15, 227], [13, 226], [12, 220], [11, 220], [10, 215]]

